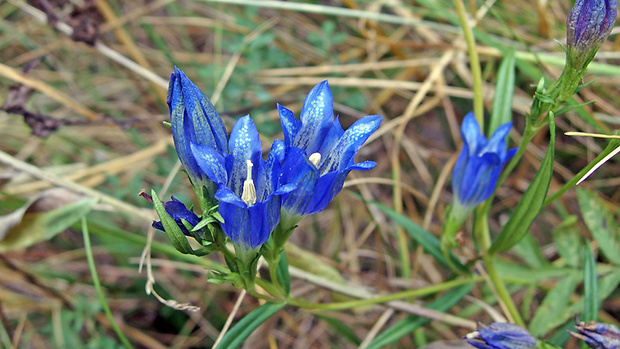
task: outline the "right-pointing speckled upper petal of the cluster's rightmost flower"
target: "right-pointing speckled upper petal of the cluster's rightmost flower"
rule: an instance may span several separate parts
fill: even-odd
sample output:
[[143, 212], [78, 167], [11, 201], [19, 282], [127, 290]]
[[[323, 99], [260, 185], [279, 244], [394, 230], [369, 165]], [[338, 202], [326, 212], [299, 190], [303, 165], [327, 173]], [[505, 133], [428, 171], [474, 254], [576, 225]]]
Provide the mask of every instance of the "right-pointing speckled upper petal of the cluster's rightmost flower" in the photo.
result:
[[355, 153], [368, 137], [377, 130], [382, 119], [379, 115], [368, 115], [351, 125], [321, 163], [321, 173], [342, 170], [350, 166], [353, 163]]

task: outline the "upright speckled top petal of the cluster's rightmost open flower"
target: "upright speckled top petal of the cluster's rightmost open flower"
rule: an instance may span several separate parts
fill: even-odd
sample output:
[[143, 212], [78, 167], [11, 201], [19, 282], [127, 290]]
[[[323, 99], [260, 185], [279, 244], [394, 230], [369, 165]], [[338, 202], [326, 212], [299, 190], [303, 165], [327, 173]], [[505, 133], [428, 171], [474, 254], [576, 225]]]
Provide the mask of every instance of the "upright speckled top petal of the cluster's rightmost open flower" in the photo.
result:
[[304, 149], [307, 154], [317, 152], [333, 120], [333, 97], [325, 80], [314, 86], [306, 96], [301, 108], [302, 125], [295, 135], [293, 146]]

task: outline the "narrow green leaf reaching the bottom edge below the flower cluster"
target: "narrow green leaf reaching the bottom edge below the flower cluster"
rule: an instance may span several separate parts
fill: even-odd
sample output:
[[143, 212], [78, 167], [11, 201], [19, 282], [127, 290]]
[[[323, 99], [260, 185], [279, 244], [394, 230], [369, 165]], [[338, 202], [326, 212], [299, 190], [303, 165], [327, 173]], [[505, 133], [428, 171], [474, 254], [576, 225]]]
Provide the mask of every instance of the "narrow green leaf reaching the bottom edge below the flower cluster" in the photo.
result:
[[238, 348], [258, 326], [283, 307], [284, 303], [268, 302], [256, 308], [243, 319], [239, 320], [239, 322], [226, 333], [217, 347], [220, 349]]

